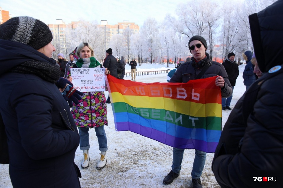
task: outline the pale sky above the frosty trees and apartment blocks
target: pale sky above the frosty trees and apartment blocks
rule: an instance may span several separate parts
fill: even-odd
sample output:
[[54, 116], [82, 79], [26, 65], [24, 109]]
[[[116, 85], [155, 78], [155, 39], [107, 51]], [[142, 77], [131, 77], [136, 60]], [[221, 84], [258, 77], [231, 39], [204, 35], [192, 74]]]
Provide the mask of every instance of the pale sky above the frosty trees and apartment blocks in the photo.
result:
[[175, 15], [178, 4], [185, 0], [0, 0], [3, 10], [12, 17], [31, 16], [45, 24], [54, 24], [62, 19], [65, 24], [71, 21], [107, 20], [108, 24], [117, 24], [123, 20], [143, 25], [148, 17], [162, 21], [167, 13]]

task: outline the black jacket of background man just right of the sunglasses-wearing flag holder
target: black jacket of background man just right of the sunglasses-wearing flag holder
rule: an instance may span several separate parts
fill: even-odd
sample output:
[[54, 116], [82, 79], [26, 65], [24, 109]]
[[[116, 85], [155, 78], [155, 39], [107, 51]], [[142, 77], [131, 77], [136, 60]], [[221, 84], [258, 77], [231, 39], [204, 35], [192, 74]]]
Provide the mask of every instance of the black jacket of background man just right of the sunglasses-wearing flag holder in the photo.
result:
[[226, 73], [228, 75], [228, 79], [231, 83], [232, 86], [236, 85], [236, 79], [238, 78], [239, 75], [239, 66], [236, 63], [236, 61], [231, 62], [228, 59], [226, 59], [222, 65], [224, 66]]

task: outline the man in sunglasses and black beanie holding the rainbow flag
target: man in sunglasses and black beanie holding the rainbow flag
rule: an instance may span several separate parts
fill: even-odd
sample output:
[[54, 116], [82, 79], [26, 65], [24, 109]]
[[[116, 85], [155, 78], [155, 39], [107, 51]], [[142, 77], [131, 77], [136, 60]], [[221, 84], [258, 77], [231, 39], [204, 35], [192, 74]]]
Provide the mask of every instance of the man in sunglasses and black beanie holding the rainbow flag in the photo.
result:
[[[217, 76], [215, 85], [221, 88], [221, 97], [227, 98], [232, 94], [232, 86], [222, 64], [210, 60], [206, 53], [207, 43], [201, 36], [192, 36], [189, 40], [189, 49], [193, 55], [191, 61], [182, 63], [170, 79], [171, 83], [187, 83], [189, 80]], [[173, 147], [173, 164], [171, 172], [163, 179], [164, 184], [170, 184], [179, 176], [184, 150]], [[200, 176], [205, 164], [206, 152], [195, 150], [195, 160], [192, 167], [193, 188], [201, 188]]]

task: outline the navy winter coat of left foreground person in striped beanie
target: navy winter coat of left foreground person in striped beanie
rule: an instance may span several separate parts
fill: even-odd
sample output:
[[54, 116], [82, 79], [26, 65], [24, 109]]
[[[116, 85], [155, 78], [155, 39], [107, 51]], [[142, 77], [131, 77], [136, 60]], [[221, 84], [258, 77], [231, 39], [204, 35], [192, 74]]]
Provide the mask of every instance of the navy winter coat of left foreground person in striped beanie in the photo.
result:
[[0, 113], [8, 136], [12, 185], [80, 187], [74, 163], [80, 138], [68, 103], [54, 83], [9, 71], [21, 61], [51, 60], [23, 48], [27, 45], [14, 44], [6, 50], [0, 40]]

